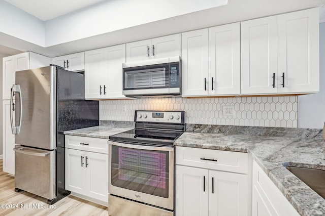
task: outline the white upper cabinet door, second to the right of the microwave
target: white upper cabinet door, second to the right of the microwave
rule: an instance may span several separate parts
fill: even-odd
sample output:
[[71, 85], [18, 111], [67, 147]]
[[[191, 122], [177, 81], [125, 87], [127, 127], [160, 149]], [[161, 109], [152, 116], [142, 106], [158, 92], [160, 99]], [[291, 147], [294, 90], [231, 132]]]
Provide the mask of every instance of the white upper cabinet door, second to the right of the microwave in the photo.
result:
[[209, 28], [209, 95], [240, 94], [240, 24]]

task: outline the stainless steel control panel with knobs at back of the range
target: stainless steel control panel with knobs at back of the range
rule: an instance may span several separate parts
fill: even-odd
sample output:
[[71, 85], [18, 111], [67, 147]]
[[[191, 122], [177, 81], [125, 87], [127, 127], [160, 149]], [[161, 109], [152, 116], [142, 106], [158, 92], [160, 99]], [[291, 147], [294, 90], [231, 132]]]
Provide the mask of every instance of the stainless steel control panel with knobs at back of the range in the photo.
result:
[[184, 111], [139, 111], [136, 110], [135, 121], [159, 123], [184, 123]]

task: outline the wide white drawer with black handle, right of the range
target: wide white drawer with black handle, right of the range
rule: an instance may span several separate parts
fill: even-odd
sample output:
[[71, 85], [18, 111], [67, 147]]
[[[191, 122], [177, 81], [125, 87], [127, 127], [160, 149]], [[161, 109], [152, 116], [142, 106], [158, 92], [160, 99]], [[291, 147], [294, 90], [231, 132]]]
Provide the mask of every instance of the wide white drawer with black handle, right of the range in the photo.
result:
[[247, 174], [248, 154], [177, 146], [176, 164]]

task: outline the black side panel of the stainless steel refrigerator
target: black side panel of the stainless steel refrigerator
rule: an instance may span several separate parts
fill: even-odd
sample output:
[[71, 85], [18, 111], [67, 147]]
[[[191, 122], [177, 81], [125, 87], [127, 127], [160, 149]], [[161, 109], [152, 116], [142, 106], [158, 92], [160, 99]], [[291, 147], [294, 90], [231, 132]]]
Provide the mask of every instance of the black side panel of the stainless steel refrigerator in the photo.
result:
[[65, 189], [64, 131], [99, 125], [99, 101], [84, 99], [84, 74], [57, 67], [56, 72], [56, 147], [57, 198]]

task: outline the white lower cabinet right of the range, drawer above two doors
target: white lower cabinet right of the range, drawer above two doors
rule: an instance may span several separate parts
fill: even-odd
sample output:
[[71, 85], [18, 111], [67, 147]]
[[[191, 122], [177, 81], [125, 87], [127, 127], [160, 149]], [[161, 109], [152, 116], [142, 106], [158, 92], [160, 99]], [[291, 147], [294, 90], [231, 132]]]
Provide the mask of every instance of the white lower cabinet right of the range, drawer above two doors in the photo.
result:
[[[247, 153], [177, 146], [175, 214], [250, 215], [247, 159]], [[242, 173], [226, 171], [226, 166]]]

